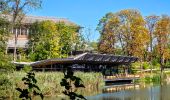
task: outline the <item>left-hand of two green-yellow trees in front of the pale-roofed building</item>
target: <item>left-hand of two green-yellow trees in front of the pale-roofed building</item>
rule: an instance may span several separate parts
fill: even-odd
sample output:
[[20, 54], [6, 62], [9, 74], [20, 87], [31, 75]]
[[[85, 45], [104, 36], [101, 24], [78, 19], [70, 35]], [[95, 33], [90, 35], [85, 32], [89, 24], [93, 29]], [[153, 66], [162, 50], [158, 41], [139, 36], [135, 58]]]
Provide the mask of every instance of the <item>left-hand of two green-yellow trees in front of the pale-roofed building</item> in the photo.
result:
[[29, 34], [30, 57], [33, 61], [59, 57], [60, 36], [52, 21], [36, 22]]

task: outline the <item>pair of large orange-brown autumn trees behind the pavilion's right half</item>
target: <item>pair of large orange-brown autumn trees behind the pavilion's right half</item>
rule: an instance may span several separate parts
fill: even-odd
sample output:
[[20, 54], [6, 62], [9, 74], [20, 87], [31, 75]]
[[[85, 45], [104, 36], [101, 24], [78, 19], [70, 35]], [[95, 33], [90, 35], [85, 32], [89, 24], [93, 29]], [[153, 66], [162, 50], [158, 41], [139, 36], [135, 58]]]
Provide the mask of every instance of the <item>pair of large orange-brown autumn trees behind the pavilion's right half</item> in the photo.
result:
[[139, 11], [128, 9], [108, 13], [99, 21], [97, 29], [101, 34], [100, 52], [115, 54], [121, 48], [124, 55], [144, 58], [149, 36]]

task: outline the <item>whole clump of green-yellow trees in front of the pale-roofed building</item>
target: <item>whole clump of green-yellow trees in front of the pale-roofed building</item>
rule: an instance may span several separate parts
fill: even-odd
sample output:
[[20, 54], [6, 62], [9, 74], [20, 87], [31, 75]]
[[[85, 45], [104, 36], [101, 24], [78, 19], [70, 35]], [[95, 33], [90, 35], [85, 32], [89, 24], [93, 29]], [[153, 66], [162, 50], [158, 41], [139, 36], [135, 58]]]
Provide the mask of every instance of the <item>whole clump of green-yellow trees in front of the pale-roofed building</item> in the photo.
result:
[[79, 47], [79, 27], [75, 25], [42, 21], [34, 23], [31, 30], [29, 56], [33, 61], [67, 57]]

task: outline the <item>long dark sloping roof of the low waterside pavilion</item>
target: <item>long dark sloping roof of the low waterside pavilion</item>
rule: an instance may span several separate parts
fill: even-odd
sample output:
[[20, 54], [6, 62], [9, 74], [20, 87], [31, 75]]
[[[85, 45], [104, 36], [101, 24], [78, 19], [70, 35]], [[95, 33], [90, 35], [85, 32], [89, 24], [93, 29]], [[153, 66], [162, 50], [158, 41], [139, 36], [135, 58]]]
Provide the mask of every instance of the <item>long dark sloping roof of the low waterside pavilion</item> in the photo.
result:
[[120, 65], [137, 61], [137, 57], [115, 56], [111, 54], [83, 53], [70, 58], [54, 58], [34, 62], [31, 66], [43, 66], [51, 64], [100, 64], [100, 65]]

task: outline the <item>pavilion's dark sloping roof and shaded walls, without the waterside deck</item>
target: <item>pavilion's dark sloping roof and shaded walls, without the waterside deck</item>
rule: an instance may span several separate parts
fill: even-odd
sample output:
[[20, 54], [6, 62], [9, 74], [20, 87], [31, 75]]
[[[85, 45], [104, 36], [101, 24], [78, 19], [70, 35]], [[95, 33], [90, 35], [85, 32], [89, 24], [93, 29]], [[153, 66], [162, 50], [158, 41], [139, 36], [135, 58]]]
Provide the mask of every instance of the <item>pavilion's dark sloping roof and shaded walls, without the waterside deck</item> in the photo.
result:
[[83, 53], [70, 58], [37, 61], [30, 65], [36, 71], [62, 71], [64, 67], [70, 66], [73, 70], [78, 71], [112, 74], [118, 72], [120, 66], [129, 69], [129, 65], [137, 60], [137, 57]]

